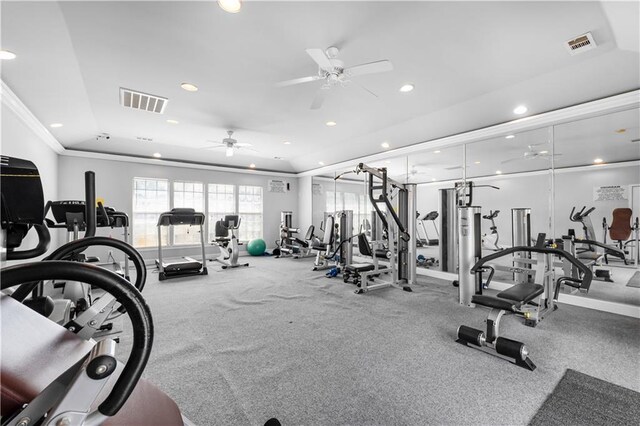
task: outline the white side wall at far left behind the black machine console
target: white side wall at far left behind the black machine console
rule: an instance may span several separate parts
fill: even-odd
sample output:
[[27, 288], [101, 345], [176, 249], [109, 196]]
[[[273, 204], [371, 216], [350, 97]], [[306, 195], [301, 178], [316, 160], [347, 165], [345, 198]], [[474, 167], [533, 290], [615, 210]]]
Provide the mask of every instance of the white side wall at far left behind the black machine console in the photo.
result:
[[[58, 154], [4, 103], [2, 104], [1, 134], [2, 155], [32, 161], [40, 172], [45, 201], [56, 199], [58, 197]], [[52, 233], [51, 238], [50, 247], [56, 248], [58, 245], [56, 235]], [[24, 242], [24, 248], [34, 247], [36, 242], [37, 237], [34, 231], [31, 231]]]

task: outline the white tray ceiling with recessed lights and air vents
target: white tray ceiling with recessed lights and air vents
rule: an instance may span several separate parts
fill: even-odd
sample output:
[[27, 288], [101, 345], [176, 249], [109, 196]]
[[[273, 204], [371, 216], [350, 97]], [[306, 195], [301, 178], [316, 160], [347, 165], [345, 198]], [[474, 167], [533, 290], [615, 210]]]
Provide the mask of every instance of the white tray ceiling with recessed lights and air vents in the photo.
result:
[[[2, 79], [67, 148], [303, 171], [640, 87], [638, 2], [2, 2]], [[598, 48], [563, 42], [591, 31]], [[320, 110], [306, 48], [347, 66], [389, 59]], [[200, 90], [188, 93], [180, 83]], [[416, 89], [398, 92], [405, 82]], [[118, 104], [126, 87], [170, 99], [163, 115]], [[178, 125], [166, 123], [175, 119]], [[336, 127], [324, 125], [327, 120]], [[258, 153], [197, 149], [236, 130]], [[96, 140], [107, 132], [110, 140]], [[152, 138], [140, 142], [136, 137]], [[291, 145], [284, 145], [283, 141]], [[274, 160], [273, 157], [285, 160]]]

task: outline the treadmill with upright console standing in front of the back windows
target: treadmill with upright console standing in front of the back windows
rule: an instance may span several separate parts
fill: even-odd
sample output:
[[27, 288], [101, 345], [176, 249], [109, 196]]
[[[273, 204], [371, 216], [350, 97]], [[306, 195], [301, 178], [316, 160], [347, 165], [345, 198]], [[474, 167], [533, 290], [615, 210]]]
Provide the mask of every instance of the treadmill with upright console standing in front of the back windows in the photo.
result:
[[[207, 275], [207, 257], [204, 252], [204, 213], [196, 212], [190, 208], [177, 208], [164, 212], [158, 218], [158, 258], [156, 267], [160, 281], [185, 275]], [[162, 227], [164, 226], [199, 226], [200, 247], [202, 249], [202, 262], [191, 257], [180, 259], [162, 259]]]

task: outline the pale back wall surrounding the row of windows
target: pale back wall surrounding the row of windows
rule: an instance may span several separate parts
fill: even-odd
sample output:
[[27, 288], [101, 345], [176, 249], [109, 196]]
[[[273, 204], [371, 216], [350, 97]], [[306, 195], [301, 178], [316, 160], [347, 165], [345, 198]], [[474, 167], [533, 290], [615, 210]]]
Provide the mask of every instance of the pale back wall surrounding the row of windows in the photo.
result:
[[[173, 167], [163, 165], [140, 164], [124, 161], [112, 161], [102, 159], [79, 158], [60, 156], [59, 199], [83, 199], [84, 198], [84, 172], [87, 170], [96, 173], [96, 196], [105, 200], [105, 205], [124, 211], [131, 216], [133, 208], [133, 178], [150, 177], [164, 178], [170, 181], [189, 180], [206, 183], [221, 183], [235, 185], [257, 185], [263, 187], [264, 194], [264, 240], [267, 247], [274, 247], [274, 242], [279, 235], [280, 211], [296, 211], [298, 208], [298, 183], [296, 177], [270, 177], [266, 175], [249, 173], [221, 172], [206, 169], [188, 167]], [[284, 180], [291, 184], [291, 190], [287, 193], [268, 192], [268, 180]], [[295, 213], [294, 213], [295, 214]], [[63, 232], [63, 231], [61, 231]], [[98, 234], [109, 233], [109, 230], [99, 230]], [[117, 231], [119, 237], [120, 230]], [[209, 247], [209, 245], [207, 244]], [[156, 258], [155, 248], [139, 250], [146, 260]], [[193, 255], [199, 257], [199, 246], [168, 248], [166, 256]], [[215, 253], [215, 249], [209, 247], [207, 253]], [[104, 254], [97, 253], [102, 257]], [[164, 255], [163, 250], [163, 255]]]

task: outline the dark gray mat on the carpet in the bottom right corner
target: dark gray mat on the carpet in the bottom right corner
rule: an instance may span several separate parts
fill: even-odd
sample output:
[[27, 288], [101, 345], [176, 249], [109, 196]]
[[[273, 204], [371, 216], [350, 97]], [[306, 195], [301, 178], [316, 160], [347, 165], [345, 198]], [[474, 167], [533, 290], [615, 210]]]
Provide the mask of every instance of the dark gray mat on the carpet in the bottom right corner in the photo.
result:
[[567, 369], [529, 426], [638, 425], [640, 393]]

